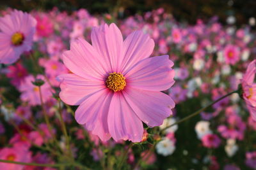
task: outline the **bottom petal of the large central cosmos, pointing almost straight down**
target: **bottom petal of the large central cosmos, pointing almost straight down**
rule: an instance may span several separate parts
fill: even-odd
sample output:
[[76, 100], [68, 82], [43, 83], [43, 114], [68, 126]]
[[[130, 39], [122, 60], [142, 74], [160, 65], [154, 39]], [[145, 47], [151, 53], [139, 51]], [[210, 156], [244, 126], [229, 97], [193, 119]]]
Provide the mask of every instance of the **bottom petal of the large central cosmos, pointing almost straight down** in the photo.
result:
[[120, 139], [140, 142], [143, 136], [143, 124], [125, 101], [122, 93], [115, 93], [108, 113], [108, 128], [115, 141]]

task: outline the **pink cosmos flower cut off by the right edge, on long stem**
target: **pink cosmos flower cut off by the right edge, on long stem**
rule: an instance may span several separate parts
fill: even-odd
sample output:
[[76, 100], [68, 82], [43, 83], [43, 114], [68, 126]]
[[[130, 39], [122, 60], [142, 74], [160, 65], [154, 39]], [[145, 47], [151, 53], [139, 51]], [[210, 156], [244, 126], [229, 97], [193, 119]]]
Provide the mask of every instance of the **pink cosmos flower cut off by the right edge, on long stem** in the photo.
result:
[[256, 120], [256, 83], [254, 83], [256, 74], [256, 60], [253, 60], [248, 65], [246, 72], [241, 80], [243, 89], [243, 99], [252, 116]]

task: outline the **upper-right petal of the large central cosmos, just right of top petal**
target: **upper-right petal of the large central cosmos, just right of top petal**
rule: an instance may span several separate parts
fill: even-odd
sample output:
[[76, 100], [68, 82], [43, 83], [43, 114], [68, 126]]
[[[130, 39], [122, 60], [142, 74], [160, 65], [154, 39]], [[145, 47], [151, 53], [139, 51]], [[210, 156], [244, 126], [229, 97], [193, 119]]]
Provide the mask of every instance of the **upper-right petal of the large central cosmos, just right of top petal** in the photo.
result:
[[125, 72], [142, 59], [146, 59], [154, 50], [154, 40], [142, 31], [134, 31], [124, 41], [124, 60], [122, 71]]

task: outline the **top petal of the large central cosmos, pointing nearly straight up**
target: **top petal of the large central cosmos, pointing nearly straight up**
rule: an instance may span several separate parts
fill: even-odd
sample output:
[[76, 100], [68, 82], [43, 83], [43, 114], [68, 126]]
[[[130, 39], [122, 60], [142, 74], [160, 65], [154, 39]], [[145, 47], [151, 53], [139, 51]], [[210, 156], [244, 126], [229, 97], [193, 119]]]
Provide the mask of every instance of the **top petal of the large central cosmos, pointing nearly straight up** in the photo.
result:
[[123, 36], [115, 24], [101, 25], [92, 29], [92, 46], [97, 50], [111, 72], [119, 72], [123, 56]]

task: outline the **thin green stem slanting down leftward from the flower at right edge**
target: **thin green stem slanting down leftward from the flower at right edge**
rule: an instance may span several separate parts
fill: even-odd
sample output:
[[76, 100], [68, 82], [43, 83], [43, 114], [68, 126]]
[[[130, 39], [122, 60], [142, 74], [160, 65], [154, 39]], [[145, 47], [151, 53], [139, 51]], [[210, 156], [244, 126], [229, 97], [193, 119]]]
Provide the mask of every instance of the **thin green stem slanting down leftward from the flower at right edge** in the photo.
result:
[[164, 129], [162, 129], [162, 130], [160, 131], [160, 133], [163, 132], [163, 131], [165, 131], [165, 130], [168, 129], [169, 127], [172, 127], [173, 125], [180, 124], [180, 123], [182, 123], [182, 122], [188, 120], [189, 118], [192, 118], [192, 117], [195, 117], [196, 115], [199, 115], [200, 113], [202, 113], [202, 111], [204, 111], [204, 110], [206, 110], [207, 108], [211, 107], [213, 104], [218, 103], [219, 101], [221, 101], [221, 100], [224, 99], [225, 97], [228, 97], [228, 96], [230, 96], [231, 94], [234, 94], [234, 93], [237, 93], [237, 92], [239, 92], [239, 90], [236, 90], [236, 91], [234, 91], [234, 92], [230, 92], [230, 93], [226, 94], [225, 96], [220, 97], [219, 99], [217, 99], [216, 101], [213, 101], [212, 103], [208, 104], [208, 105], [205, 106], [204, 108], [201, 108], [200, 110], [195, 111], [195, 112], [192, 113], [191, 115], [188, 115], [188, 117], [184, 117], [184, 118], [180, 119], [178, 122], [175, 122], [175, 124], [172, 124], [172, 125], [169, 125], [169, 126], [167, 126], [167, 127], [164, 127]]

